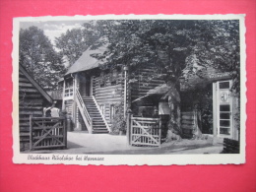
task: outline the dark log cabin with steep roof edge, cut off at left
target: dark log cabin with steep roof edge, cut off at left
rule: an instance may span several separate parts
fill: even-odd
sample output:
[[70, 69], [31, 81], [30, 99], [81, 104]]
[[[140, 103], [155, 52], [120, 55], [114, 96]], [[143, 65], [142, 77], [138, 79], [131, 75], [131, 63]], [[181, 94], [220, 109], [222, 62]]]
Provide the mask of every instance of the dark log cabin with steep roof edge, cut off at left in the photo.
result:
[[30, 144], [30, 115], [42, 117], [43, 107], [50, 106], [53, 99], [32, 78], [29, 72], [19, 66], [19, 121], [20, 147], [29, 149]]

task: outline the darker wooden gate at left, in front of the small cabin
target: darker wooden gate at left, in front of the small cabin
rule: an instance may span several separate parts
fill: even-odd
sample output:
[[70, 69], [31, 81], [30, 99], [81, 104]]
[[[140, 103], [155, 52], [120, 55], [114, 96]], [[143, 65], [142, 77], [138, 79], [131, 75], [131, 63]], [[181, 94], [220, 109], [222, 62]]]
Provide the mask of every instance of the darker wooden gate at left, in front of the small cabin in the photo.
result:
[[30, 150], [67, 148], [64, 117], [30, 116]]

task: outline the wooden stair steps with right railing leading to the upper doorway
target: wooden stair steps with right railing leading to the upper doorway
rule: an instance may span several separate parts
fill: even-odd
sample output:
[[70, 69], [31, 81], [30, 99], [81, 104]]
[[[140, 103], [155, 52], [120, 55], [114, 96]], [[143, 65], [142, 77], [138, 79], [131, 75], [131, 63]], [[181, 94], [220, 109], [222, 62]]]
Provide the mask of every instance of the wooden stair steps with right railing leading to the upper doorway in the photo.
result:
[[104, 120], [96, 106], [96, 102], [92, 96], [83, 97], [84, 103], [87, 107], [89, 115], [93, 119], [93, 134], [109, 133]]

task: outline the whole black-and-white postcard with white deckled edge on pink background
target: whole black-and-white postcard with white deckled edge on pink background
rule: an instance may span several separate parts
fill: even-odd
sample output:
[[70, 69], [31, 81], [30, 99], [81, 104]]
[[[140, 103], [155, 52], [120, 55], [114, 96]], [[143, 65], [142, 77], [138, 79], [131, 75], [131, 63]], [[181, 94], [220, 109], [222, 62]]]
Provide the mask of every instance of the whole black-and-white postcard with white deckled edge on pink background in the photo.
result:
[[15, 18], [16, 163], [245, 162], [244, 15]]

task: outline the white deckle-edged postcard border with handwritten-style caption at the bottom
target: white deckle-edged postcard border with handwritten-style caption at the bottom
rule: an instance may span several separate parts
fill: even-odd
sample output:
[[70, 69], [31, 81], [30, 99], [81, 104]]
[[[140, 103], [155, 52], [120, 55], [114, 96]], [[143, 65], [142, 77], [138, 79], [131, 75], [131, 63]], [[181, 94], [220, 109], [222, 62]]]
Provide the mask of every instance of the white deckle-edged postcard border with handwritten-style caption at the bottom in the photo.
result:
[[[38, 156], [50, 160], [28, 160], [29, 154], [20, 153], [19, 143], [19, 29], [21, 22], [42, 21], [79, 21], [79, 20], [239, 20], [240, 21], [240, 154], [238, 155], [59, 155], [68, 156], [74, 160], [51, 160], [54, 154], [40, 154]], [[102, 16], [59, 16], [59, 17], [26, 17], [15, 18], [13, 22], [13, 150], [14, 163], [45, 163], [45, 164], [104, 164], [104, 165], [170, 165], [170, 164], [227, 164], [245, 163], [245, 122], [246, 122], [246, 69], [245, 69], [245, 15], [102, 15]], [[36, 154], [32, 154], [36, 156]], [[75, 160], [77, 156], [83, 159], [103, 157], [104, 160]]]

